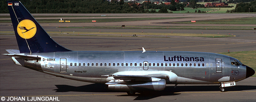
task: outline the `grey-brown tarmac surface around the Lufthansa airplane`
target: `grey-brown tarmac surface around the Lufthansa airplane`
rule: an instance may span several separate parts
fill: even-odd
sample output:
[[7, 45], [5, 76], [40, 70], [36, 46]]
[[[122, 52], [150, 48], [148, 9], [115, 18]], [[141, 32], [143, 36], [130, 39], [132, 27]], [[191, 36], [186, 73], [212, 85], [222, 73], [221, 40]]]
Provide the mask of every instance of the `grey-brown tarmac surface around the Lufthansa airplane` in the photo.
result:
[[[134, 22], [133, 22], [134, 23]], [[82, 24], [82, 23], [81, 23]], [[58, 29], [55, 24], [42, 24], [46, 31], [97, 32], [102, 29]], [[1, 31], [13, 31], [1, 24]], [[256, 50], [255, 30], [171, 30], [177, 33], [234, 34], [228, 38], [200, 37], [102, 37], [50, 35], [60, 45], [74, 51], [198, 51], [222, 53], [227, 50]], [[170, 30], [143, 29], [143, 32], [168, 33]], [[102, 32], [141, 32], [141, 29], [103, 29]], [[0, 97], [48, 96], [61, 102], [255, 102], [256, 77], [237, 82], [237, 86], [220, 92], [220, 85], [168, 84], [164, 91], [128, 96], [126, 92], [110, 91], [104, 84], [86, 83], [54, 77], [13, 64], [5, 49], [18, 49], [15, 35], [0, 35]], [[0, 100], [2, 102], [2, 100]]]

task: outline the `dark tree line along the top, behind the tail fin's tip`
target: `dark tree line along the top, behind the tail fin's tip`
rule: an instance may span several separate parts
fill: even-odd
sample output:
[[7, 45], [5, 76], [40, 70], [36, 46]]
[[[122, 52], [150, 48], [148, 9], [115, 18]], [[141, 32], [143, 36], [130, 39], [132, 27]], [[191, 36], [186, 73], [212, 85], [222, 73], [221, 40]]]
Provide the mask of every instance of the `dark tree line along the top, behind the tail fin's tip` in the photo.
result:
[[[169, 9], [176, 11], [184, 6], [179, 3], [172, 5], [157, 5], [154, 3], [143, 3], [137, 5], [137, 2], [125, 3], [124, 0], [20, 0], [30, 13], [157, 13], [155, 9], [164, 9], [159, 13]], [[8, 13], [6, 1], [0, 1], [0, 13]], [[145, 10], [146, 9], [146, 10]], [[147, 10], [151, 9], [151, 11]]]

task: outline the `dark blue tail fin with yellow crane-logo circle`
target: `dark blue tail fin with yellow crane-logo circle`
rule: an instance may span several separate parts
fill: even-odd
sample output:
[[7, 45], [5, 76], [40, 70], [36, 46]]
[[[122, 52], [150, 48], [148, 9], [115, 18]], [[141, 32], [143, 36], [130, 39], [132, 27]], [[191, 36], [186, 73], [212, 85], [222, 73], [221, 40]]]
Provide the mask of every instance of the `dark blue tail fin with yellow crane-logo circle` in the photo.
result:
[[71, 51], [52, 40], [21, 2], [7, 4], [20, 53]]

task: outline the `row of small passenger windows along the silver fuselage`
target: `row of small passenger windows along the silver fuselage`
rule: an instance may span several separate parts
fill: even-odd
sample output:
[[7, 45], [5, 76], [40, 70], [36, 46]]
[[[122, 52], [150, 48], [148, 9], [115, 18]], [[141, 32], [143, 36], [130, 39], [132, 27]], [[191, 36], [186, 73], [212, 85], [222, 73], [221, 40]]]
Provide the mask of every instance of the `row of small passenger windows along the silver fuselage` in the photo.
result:
[[[74, 63], [74, 65], [75, 66], [77, 66], [77, 64], [76, 63]], [[98, 64], [98, 63], [96, 63], [95, 64], [95, 66], [103, 66], [103, 63], [100, 63], [100, 64]], [[104, 63], [104, 66], [111, 66], [111, 63]], [[113, 66], [115, 66], [116, 64], [115, 63], [113, 63], [112, 64]], [[165, 64], [163, 64], [163, 63], [149, 63], [148, 64], [148, 66], [168, 66], [168, 63], [165, 63]], [[181, 64], [179, 64], [179, 63], [177, 63], [177, 64], [175, 64], [175, 63], [169, 63], [169, 66], [181, 66], [181, 67], [183, 67], [184, 66], [184, 64], [183, 63], [181, 63]], [[196, 67], [196, 65], [198, 66], [198, 67], [200, 67], [201, 66], [201, 64], [200, 63], [198, 63], [198, 64], [196, 64], [196, 63], [194, 63], [194, 64], [192, 64], [192, 63], [190, 63], [190, 64], [188, 64], [188, 63], [185, 63], [185, 66], [194, 66], [194, 67]], [[73, 66], [73, 63], [70, 63], [70, 66]], [[81, 66], [81, 63], [78, 63], [78, 66]], [[83, 63], [83, 66], [86, 66], [86, 63]], [[90, 63], [87, 63], [87, 66], [90, 66]], [[94, 66], [94, 63], [91, 63], [91, 66]], [[120, 64], [119, 63], [117, 63], [117, 66], [120, 66]], [[124, 66], [124, 63], [121, 63], [121, 66]], [[125, 63], [125, 66], [128, 66], [128, 63]], [[133, 66], [133, 63], [130, 63], [130, 66]], [[137, 63], [134, 63], [134, 66], [137, 66]], [[142, 66], [142, 63], [139, 63], [139, 66]], [[144, 63], [144, 66], [147, 66], [147, 63]], [[204, 63], [202, 64], [202, 66], [204, 67]]]

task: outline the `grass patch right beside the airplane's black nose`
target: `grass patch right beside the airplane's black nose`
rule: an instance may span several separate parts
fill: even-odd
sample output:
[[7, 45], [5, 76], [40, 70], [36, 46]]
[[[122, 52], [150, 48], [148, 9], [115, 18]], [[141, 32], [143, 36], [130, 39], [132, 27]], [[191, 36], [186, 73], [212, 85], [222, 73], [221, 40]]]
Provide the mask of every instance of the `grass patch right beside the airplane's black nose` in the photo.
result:
[[[251, 67], [256, 72], [256, 51], [240, 51], [230, 53], [219, 53], [238, 59], [243, 64]], [[253, 75], [256, 77], [256, 74]]]

